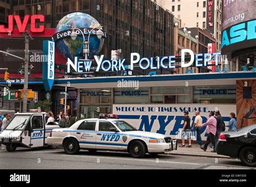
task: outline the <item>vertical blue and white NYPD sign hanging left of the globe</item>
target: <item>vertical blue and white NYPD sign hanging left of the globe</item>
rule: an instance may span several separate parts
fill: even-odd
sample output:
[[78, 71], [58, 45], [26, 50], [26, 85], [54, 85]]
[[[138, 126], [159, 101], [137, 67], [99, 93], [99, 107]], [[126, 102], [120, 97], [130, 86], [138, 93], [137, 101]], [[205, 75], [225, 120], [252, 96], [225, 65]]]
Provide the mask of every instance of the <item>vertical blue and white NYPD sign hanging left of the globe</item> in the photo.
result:
[[55, 72], [55, 43], [53, 41], [44, 40], [44, 55], [47, 56], [43, 62], [43, 82], [46, 91], [50, 91], [54, 82]]

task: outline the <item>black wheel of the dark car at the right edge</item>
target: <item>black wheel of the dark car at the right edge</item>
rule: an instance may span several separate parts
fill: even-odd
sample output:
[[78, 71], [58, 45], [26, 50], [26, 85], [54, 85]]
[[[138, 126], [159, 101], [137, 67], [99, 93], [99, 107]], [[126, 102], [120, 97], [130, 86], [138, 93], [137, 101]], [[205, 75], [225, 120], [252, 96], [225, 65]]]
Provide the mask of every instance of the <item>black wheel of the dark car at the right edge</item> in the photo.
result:
[[239, 154], [241, 162], [249, 167], [256, 167], [256, 148], [242, 148]]

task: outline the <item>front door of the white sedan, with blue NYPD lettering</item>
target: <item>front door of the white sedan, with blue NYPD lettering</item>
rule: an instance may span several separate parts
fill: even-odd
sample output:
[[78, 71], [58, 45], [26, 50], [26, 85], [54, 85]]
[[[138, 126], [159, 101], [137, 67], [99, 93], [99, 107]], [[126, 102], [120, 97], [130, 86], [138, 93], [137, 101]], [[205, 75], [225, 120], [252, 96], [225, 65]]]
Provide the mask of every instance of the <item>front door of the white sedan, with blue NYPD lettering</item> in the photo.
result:
[[96, 149], [122, 150], [120, 134], [113, 129], [116, 127], [111, 122], [99, 120], [98, 131], [96, 132]]

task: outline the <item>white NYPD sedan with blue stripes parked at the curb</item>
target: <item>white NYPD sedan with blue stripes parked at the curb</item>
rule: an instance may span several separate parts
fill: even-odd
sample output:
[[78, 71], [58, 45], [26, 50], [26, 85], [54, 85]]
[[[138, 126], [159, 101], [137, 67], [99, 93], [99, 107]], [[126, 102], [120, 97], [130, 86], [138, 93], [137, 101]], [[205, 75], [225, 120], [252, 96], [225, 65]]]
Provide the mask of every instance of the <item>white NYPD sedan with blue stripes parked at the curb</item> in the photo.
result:
[[138, 131], [113, 114], [100, 114], [99, 118], [79, 120], [70, 128], [53, 129], [47, 142], [63, 146], [67, 154], [77, 154], [80, 149], [112, 150], [127, 151], [132, 157], [141, 158], [146, 153], [156, 156], [177, 150], [176, 140], [171, 137]]

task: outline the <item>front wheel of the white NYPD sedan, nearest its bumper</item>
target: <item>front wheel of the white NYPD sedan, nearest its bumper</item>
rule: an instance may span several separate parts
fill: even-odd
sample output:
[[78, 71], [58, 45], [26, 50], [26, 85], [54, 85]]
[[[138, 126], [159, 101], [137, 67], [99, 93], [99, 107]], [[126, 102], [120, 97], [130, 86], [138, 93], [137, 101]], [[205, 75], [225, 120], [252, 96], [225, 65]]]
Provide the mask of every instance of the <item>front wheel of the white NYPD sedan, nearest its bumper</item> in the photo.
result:
[[146, 154], [146, 147], [139, 140], [133, 141], [129, 147], [129, 153], [134, 158], [142, 158]]

